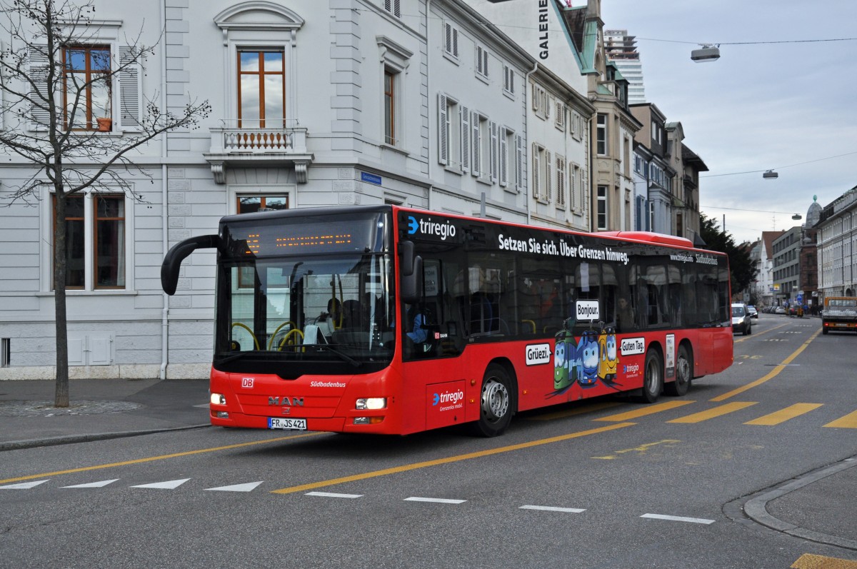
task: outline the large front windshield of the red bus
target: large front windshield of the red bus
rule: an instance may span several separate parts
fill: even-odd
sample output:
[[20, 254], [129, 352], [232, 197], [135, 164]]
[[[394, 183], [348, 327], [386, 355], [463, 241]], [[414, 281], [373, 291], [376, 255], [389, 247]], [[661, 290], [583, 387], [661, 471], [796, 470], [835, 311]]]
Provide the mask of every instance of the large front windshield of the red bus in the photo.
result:
[[221, 261], [219, 270], [215, 366], [243, 355], [351, 364], [392, 358], [387, 255]]

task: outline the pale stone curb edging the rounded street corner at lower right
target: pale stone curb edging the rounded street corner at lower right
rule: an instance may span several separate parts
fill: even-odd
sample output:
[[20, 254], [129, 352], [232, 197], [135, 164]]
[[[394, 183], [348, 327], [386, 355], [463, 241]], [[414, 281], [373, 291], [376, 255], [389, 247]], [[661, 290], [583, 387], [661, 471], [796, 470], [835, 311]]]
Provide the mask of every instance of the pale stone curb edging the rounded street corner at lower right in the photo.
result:
[[812, 482], [818, 482], [822, 478], [826, 478], [827, 476], [836, 474], [837, 472], [842, 472], [842, 470], [848, 470], [854, 466], [857, 466], [857, 458], [846, 458], [840, 463], [827, 466], [820, 470], [814, 470], [809, 474], [800, 476], [777, 488], [764, 491], [763, 494], [758, 494], [750, 500], [747, 500], [743, 506], [743, 511], [748, 518], [752, 519], [757, 524], [762, 524], [765, 527], [770, 528], [771, 530], [781, 531], [782, 533], [786, 533], [790, 536], [800, 537], [801, 539], [806, 539], [811, 542], [824, 543], [827, 545], [834, 545], [839, 548], [853, 549], [854, 551], [857, 551], [857, 541], [854, 541], [853, 539], [830, 536], [818, 531], [807, 530], [806, 528], [801, 528], [800, 526], [789, 524], [788, 522], [783, 522], [781, 519], [771, 516], [767, 510], [768, 502], [776, 500], [790, 492], [794, 492], [794, 490], [812, 484]]

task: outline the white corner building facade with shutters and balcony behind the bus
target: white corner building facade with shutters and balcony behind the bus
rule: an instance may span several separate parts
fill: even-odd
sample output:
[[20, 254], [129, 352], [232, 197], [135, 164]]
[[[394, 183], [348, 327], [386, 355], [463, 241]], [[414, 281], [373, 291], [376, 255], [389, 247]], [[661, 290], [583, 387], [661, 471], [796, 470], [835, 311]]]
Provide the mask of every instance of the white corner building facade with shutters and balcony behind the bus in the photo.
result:
[[[89, 45], [103, 46], [113, 65], [141, 30], [141, 42], [157, 46], [135, 75], [135, 91], [128, 81], [112, 93], [105, 136], [134, 129], [132, 94], [138, 113], [146, 97], [173, 110], [189, 97], [208, 99], [213, 113], [201, 129], [141, 148], [135, 163], [146, 173], [127, 174], [136, 197], [120, 189], [80, 196], [81, 243], [69, 260], [79, 277], [68, 294], [73, 378], [207, 376], [214, 254], [183, 263], [175, 296], [160, 289], [159, 271], [172, 244], [216, 231], [226, 214], [398, 203], [589, 227], [588, 181], [573, 168], [590, 167], [590, 105], [565, 77], [536, 70], [529, 51], [465, 3], [97, 0], [96, 7], [103, 20], [93, 22]], [[536, 85], [548, 93], [537, 120]], [[545, 178], [535, 171], [537, 195], [533, 142], [551, 153]], [[51, 379], [51, 192], [12, 200], [33, 175], [14, 157], [0, 174], [8, 206], [0, 207], [0, 237], [14, 244], [0, 252], [0, 380]], [[99, 249], [105, 227], [111, 255]]]

